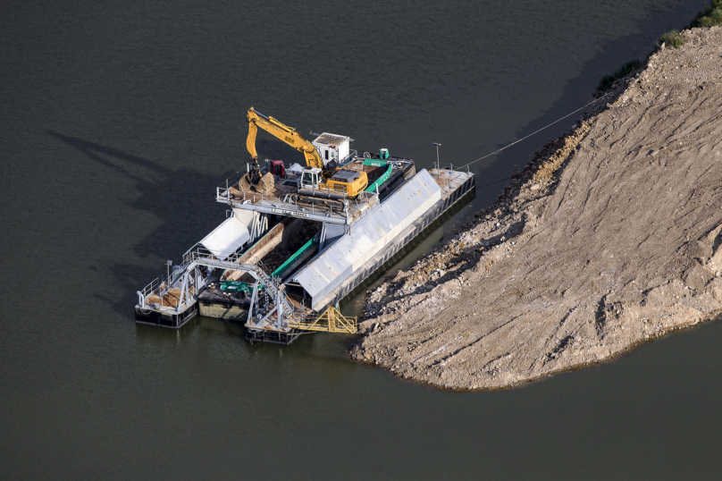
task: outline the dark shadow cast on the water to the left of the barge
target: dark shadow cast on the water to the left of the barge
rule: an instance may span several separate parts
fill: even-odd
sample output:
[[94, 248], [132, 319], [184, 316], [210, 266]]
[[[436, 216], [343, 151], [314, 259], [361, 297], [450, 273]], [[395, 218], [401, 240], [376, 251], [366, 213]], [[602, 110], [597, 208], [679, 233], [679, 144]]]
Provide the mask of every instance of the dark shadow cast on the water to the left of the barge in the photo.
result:
[[[227, 207], [213, 206], [215, 188], [235, 171], [210, 175], [191, 169], [172, 169], [118, 148], [57, 131], [46, 132], [99, 165], [109, 167], [117, 175], [132, 181], [141, 195], [126, 201], [127, 205], [160, 220], [154, 232], [132, 247], [137, 257], [149, 259], [149, 262], [109, 262], [104, 269], [113, 275], [115, 285], [119, 287], [113, 291], [113, 296], [101, 293], [94, 295], [110, 304], [118, 314], [132, 319], [133, 306], [137, 301], [136, 291], [163, 274], [164, 263], [156, 263], [155, 259], [179, 260], [186, 250], [222, 223]], [[259, 138], [256, 144], [258, 152], [264, 156], [290, 159], [291, 162], [301, 164], [304, 162], [299, 152], [275, 139]], [[245, 165], [246, 160], [244, 158], [244, 162], [239, 165]], [[134, 172], [136, 169], [142, 174]]]

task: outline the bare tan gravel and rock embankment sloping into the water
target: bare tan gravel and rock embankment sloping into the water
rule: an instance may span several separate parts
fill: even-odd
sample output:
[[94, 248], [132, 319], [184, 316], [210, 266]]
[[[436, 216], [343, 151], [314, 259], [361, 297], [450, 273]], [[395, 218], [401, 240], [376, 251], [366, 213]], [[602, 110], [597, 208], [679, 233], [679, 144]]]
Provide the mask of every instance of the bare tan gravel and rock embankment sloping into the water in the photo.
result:
[[597, 363], [722, 309], [722, 27], [683, 32], [369, 293], [351, 357], [452, 389]]

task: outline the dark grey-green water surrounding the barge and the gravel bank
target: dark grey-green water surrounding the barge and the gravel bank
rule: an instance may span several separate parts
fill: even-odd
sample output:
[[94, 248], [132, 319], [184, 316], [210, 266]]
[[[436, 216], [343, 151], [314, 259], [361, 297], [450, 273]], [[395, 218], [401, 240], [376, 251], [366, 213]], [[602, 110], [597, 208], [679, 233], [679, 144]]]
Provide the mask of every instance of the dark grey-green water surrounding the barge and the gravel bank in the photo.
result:
[[[465, 164], [592, 99], [701, 1], [6, 2], [4, 479], [718, 477], [722, 325], [503, 392], [442, 392], [238, 325], [136, 325], [135, 291], [220, 224], [245, 112]], [[575, 122], [473, 165], [491, 204]], [[260, 133], [262, 157], [300, 160]], [[343, 307], [359, 307], [360, 298]]]

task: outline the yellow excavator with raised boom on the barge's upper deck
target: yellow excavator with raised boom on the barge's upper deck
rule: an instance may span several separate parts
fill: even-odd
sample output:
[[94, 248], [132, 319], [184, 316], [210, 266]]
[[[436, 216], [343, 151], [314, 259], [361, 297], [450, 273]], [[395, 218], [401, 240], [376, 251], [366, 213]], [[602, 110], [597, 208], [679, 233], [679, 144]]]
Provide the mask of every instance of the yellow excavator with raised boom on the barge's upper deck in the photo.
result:
[[293, 127], [289, 127], [273, 117], [266, 117], [253, 107], [248, 109], [247, 120], [246, 148], [248, 148], [248, 154], [253, 158], [253, 169], [249, 173], [250, 178], [248, 179], [250, 183], [257, 184], [261, 179], [256, 152], [256, 132], [260, 127], [303, 153], [306, 159], [306, 168], [298, 179], [299, 193], [331, 198], [356, 197], [368, 185], [368, 176], [365, 172], [337, 169], [336, 163], [333, 161], [324, 165], [314, 144], [304, 139]]

